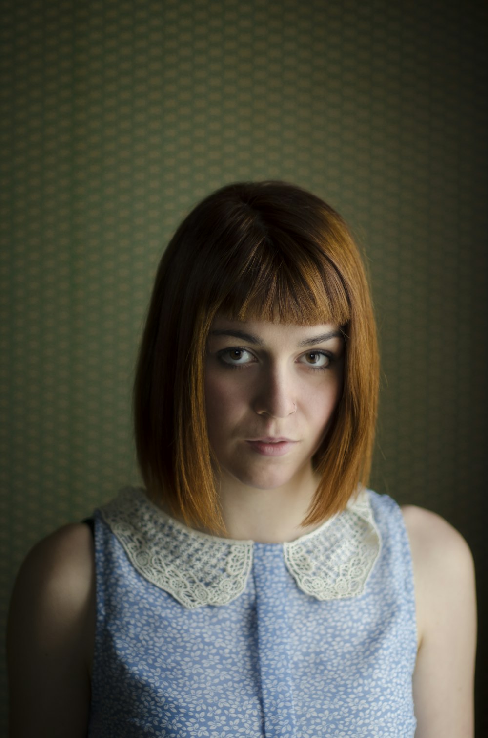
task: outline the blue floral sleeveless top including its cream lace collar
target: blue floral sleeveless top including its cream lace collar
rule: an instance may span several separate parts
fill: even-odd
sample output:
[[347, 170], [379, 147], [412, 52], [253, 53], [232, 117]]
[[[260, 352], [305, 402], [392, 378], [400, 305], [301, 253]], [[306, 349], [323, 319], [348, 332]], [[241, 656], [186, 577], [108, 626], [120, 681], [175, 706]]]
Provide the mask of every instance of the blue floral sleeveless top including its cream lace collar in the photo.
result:
[[141, 489], [95, 512], [89, 738], [413, 738], [402, 513], [363, 490], [282, 544], [187, 528]]

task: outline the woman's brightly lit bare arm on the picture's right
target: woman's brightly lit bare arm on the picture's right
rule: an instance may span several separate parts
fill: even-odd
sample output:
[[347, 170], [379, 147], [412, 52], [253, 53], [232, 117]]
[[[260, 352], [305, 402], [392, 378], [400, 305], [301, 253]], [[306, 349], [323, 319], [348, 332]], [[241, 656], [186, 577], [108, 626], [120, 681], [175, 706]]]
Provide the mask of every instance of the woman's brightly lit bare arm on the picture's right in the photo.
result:
[[419, 652], [416, 738], [473, 738], [476, 604], [473, 559], [438, 515], [404, 508], [414, 562]]

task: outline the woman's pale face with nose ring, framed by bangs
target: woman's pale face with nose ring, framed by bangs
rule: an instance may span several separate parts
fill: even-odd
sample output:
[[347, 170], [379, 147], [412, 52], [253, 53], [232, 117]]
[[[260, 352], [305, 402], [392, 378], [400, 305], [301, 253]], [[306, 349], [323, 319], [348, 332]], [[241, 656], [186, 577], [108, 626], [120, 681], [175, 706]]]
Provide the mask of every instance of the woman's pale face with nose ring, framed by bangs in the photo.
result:
[[237, 322], [217, 316], [206, 354], [209, 441], [220, 484], [299, 485], [341, 397], [337, 325]]

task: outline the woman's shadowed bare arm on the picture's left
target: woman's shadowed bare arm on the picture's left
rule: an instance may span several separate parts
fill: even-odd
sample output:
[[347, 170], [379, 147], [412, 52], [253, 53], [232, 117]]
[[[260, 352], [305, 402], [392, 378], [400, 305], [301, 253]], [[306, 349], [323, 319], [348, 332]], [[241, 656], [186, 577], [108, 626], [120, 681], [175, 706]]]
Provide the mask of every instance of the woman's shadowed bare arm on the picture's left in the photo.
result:
[[86, 525], [66, 525], [30, 551], [7, 627], [11, 738], [86, 737], [95, 618]]

